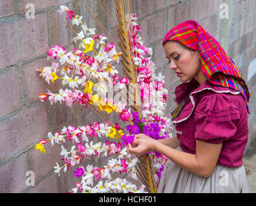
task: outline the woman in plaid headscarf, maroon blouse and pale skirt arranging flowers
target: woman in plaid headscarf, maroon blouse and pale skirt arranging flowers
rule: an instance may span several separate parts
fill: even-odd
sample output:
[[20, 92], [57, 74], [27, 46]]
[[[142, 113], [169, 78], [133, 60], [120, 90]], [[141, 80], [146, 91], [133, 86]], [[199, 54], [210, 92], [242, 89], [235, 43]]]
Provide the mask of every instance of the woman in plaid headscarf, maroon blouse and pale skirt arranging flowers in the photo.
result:
[[242, 156], [250, 93], [239, 70], [196, 21], [171, 29], [163, 46], [170, 70], [184, 82], [175, 89], [176, 136], [136, 135], [128, 153], [168, 158], [158, 192], [249, 192]]

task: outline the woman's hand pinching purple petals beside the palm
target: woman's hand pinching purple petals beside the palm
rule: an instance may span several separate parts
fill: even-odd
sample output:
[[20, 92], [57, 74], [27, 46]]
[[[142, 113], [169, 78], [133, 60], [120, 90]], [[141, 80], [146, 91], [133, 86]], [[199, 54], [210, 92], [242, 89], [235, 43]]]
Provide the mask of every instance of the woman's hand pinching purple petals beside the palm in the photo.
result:
[[156, 143], [156, 140], [144, 134], [135, 135], [133, 144], [128, 144], [126, 146], [127, 153], [142, 155], [149, 151], [154, 151]]

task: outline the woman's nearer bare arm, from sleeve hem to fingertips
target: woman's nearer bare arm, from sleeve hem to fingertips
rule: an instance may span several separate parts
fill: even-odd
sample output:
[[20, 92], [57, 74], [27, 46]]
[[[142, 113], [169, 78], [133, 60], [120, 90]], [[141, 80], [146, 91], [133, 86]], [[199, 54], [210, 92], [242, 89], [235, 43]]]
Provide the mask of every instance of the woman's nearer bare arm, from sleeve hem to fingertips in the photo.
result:
[[148, 151], [158, 151], [187, 171], [208, 178], [216, 167], [222, 144], [196, 141], [196, 154], [190, 154], [173, 149], [153, 138], [145, 137], [145, 135], [143, 137], [138, 135], [134, 138], [133, 146], [131, 144], [127, 145], [127, 152], [141, 155]]

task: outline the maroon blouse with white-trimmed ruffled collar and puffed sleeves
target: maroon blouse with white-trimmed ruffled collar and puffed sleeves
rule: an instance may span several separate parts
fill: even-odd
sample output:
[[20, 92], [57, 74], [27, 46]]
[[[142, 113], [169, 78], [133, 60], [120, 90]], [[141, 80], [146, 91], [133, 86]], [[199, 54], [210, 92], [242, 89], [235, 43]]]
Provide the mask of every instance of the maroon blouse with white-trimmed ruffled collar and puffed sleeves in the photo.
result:
[[197, 87], [198, 82], [192, 80], [175, 89], [178, 104], [186, 91], [187, 99], [190, 98], [180, 115], [172, 119], [181, 149], [195, 154], [196, 140], [222, 143], [217, 164], [227, 167], [242, 165], [248, 141], [248, 113], [244, 98], [238, 91], [215, 86], [209, 80]]

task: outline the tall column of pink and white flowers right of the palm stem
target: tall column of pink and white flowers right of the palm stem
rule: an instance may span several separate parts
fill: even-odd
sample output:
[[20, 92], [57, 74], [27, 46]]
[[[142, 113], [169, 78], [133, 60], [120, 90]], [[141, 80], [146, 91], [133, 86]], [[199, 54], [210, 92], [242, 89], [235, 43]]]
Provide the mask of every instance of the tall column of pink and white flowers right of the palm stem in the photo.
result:
[[[127, 16], [126, 18], [129, 18]], [[139, 84], [141, 99], [143, 102], [142, 115], [147, 120], [153, 120], [156, 115], [164, 116], [167, 100], [167, 89], [165, 89], [164, 77], [161, 73], [155, 74], [155, 64], [151, 61], [152, 50], [143, 45], [140, 24], [137, 23], [135, 14], [131, 15], [131, 24], [127, 27], [128, 35], [132, 39], [133, 62], [137, 66], [136, 82]]]

